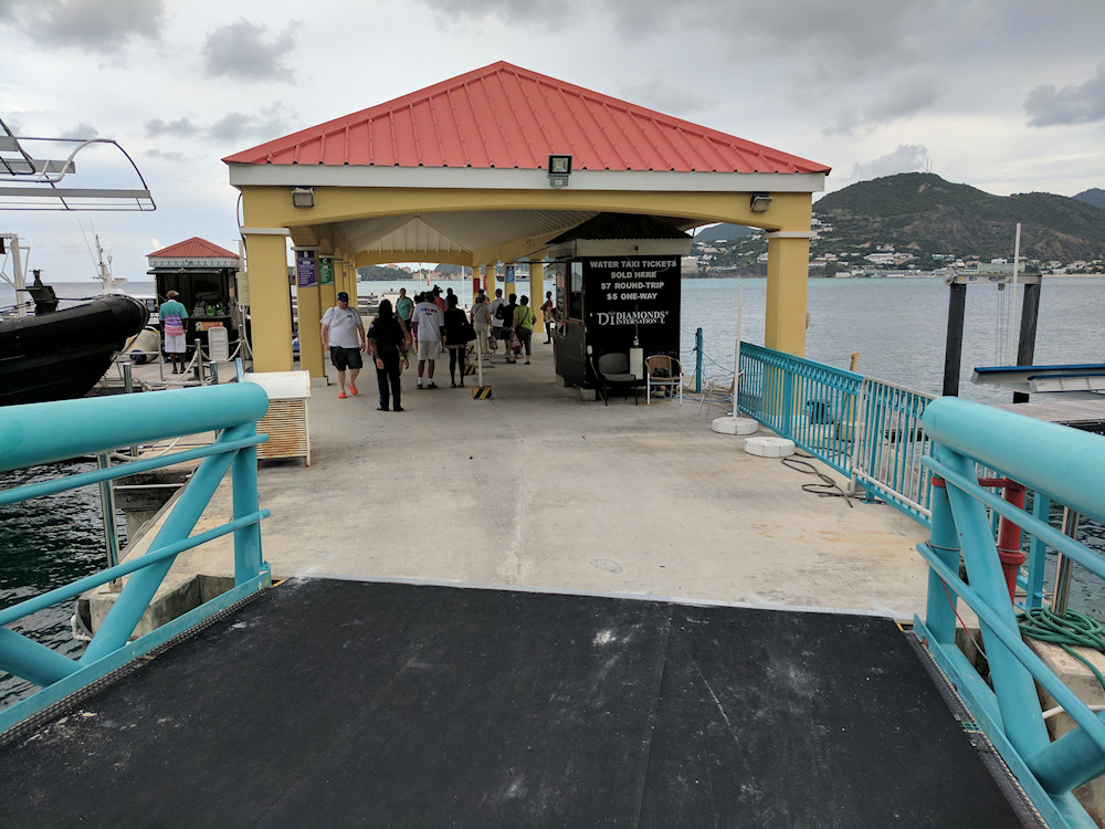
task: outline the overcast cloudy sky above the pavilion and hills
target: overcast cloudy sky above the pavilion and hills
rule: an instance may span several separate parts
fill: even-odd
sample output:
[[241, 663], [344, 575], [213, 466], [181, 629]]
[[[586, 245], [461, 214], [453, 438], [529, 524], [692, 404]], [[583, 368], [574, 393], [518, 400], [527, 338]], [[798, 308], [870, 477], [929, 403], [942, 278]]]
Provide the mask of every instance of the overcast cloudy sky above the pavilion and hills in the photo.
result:
[[236, 250], [222, 157], [499, 60], [829, 165], [829, 191], [1105, 188], [1103, 0], [0, 0], [0, 118], [117, 139], [157, 202], [0, 211], [55, 282], [94, 277], [94, 232], [130, 280], [193, 235]]

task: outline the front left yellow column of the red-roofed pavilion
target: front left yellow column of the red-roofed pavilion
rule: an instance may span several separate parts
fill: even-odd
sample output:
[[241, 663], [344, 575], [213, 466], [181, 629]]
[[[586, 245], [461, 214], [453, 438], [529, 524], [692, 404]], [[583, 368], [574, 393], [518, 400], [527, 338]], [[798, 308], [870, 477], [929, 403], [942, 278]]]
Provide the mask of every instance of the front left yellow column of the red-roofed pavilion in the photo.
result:
[[250, 274], [250, 328], [254, 371], [292, 370], [292, 294], [287, 284], [287, 243], [276, 233], [246, 233]]

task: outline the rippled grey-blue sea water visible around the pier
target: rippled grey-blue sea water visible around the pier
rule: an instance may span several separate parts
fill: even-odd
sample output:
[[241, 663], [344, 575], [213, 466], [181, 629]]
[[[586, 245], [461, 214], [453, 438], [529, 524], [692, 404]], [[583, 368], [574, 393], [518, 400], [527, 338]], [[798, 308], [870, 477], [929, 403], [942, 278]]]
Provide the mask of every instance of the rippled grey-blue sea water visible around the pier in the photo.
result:
[[[438, 281], [452, 286], [464, 302], [471, 282]], [[360, 283], [361, 294], [398, 291], [413, 294], [425, 282]], [[518, 293], [528, 290], [519, 283]], [[55, 283], [60, 298], [76, 302], [96, 295], [95, 283]], [[133, 293], [152, 293], [152, 283], [130, 283]], [[735, 343], [764, 342], [766, 280], [684, 280], [682, 283], [681, 351], [694, 369], [695, 330], [703, 330], [703, 375], [732, 375]], [[551, 281], [545, 291], [555, 290]], [[967, 290], [960, 395], [983, 402], [1007, 401], [1009, 392], [970, 382], [975, 366], [1000, 365], [1008, 346], [1012, 291], [990, 283]], [[11, 288], [0, 283], [0, 306], [12, 303]], [[540, 304], [543, 296], [535, 300]], [[848, 368], [857, 353], [860, 374], [939, 393], [944, 377], [948, 288], [940, 280], [813, 280], [809, 286], [807, 356]], [[1014, 322], [1014, 347], [1017, 326]], [[1105, 363], [1105, 279], [1045, 279], [1040, 295], [1035, 364]], [[0, 489], [57, 474], [50, 466], [0, 473]], [[122, 517], [119, 520], [122, 527]], [[1082, 537], [1105, 554], [1105, 531], [1083, 522]], [[0, 507], [0, 607], [59, 587], [104, 565], [103, 522], [96, 487], [42, 499], [29, 505]], [[1050, 576], [1049, 576], [1050, 578]], [[1075, 574], [1072, 607], [1105, 621], [1105, 588], [1087, 574]], [[51, 608], [22, 622], [23, 630], [65, 653], [83, 644], [69, 632], [71, 606]], [[27, 683], [0, 673], [0, 705], [24, 695]]]

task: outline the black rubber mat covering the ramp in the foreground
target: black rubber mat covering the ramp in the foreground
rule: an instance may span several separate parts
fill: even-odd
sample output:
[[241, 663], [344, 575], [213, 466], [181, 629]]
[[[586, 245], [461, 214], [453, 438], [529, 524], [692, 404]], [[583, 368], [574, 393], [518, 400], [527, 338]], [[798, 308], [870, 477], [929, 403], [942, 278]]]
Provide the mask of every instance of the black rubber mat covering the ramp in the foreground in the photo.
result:
[[1013, 827], [887, 619], [285, 583], [0, 746], [4, 827]]

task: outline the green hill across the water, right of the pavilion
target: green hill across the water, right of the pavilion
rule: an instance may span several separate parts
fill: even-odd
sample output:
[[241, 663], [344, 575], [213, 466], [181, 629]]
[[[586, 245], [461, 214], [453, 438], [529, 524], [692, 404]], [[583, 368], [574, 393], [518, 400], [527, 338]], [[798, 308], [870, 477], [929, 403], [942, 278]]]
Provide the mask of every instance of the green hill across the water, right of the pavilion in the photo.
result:
[[861, 181], [813, 206], [833, 230], [818, 252], [892, 244], [918, 260], [934, 254], [1012, 258], [1017, 223], [1021, 256], [1040, 261], [1105, 259], [1105, 210], [1050, 193], [991, 196], [929, 172]]

